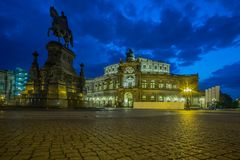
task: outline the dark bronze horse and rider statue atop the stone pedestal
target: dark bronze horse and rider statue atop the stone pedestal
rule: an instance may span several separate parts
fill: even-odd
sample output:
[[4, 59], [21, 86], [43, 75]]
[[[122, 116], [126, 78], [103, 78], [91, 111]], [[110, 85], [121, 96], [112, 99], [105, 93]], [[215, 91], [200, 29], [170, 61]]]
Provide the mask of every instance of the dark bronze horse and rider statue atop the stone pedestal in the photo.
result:
[[64, 12], [59, 16], [58, 12], [54, 7], [50, 7], [50, 16], [53, 18], [52, 27], [48, 29], [48, 36], [50, 36], [50, 31], [58, 37], [58, 42], [60, 38], [64, 39], [65, 47], [69, 46], [69, 43], [73, 47], [73, 35], [72, 31], [68, 27], [67, 17], [64, 15]]

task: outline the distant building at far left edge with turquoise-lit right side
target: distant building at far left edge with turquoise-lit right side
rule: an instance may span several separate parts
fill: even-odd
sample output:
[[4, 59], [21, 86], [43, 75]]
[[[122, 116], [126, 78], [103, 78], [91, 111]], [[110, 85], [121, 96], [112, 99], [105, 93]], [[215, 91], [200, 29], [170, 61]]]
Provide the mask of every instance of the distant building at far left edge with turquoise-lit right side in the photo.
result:
[[8, 103], [19, 95], [27, 81], [27, 72], [21, 68], [16, 70], [0, 70], [0, 98]]

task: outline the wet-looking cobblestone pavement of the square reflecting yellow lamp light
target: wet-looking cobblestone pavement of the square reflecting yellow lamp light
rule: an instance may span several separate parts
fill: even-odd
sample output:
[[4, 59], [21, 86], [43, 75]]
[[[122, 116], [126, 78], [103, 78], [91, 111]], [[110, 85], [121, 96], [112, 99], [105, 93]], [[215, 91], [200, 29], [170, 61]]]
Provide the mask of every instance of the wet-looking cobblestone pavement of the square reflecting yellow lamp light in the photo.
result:
[[240, 159], [240, 112], [4, 111], [0, 159]]

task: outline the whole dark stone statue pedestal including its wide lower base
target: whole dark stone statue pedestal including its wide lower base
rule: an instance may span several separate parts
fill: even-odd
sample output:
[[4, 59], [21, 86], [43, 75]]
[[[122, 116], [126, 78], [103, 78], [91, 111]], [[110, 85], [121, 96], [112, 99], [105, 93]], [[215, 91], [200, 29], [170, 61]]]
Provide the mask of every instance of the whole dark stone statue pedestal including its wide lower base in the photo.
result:
[[48, 59], [43, 68], [36, 71], [40, 76], [33, 76], [35, 80], [27, 83], [21, 98], [22, 105], [81, 107], [83, 98], [79, 87], [80, 77], [73, 68], [75, 54], [55, 41], [47, 44], [47, 50]]

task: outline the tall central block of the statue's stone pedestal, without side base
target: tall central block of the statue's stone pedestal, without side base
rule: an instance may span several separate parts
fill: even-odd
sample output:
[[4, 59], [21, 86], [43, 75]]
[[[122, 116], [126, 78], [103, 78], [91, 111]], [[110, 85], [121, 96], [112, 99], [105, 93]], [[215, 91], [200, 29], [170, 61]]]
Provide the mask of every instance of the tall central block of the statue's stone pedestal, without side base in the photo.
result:
[[[78, 105], [79, 77], [73, 68], [75, 54], [58, 42], [47, 44], [48, 59], [42, 69], [46, 106]], [[73, 101], [73, 103], [71, 103]]]

